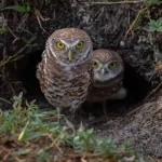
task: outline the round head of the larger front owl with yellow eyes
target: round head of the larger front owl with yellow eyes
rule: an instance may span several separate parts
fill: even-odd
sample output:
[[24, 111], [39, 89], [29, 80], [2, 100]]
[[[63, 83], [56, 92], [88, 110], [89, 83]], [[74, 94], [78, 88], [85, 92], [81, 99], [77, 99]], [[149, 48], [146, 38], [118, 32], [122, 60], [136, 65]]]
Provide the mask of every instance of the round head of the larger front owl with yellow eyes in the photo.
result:
[[78, 28], [56, 30], [48, 39], [46, 46], [52, 56], [65, 66], [76, 66], [91, 57], [91, 39], [85, 31]]

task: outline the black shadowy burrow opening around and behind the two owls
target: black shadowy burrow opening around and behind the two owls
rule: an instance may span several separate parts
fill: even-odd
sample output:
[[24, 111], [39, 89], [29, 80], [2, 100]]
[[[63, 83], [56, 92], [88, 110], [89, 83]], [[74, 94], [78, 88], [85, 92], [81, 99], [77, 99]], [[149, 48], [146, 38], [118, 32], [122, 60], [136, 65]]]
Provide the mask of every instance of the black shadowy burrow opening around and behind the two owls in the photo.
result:
[[[42, 52], [39, 51], [28, 55], [27, 64], [18, 78], [27, 91], [27, 98], [37, 99], [38, 103], [39, 98], [46, 100], [41, 93], [39, 81], [36, 78], [36, 69], [38, 63], [41, 62], [41, 53]], [[127, 96], [125, 99], [107, 102], [108, 114], [113, 113], [114, 116], [121, 116], [136, 108], [151, 90], [151, 83], [147, 82], [126, 63], [123, 84], [127, 90]], [[100, 103], [84, 103], [82, 109], [87, 114], [102, 116], [104, 113]]]

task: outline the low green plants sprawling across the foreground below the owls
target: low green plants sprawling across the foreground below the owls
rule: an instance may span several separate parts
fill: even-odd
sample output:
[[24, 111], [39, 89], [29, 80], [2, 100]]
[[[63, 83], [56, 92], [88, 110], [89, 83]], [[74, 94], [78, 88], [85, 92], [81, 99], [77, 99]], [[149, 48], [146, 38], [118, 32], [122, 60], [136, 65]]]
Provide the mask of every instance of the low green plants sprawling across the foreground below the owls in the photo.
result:
[[[62, 146], [73, 148], [78, 153], [97, 153], [105, 158], [119, 160], [123, 157], [137, 158], [136, 152], [132, 151], [127, 143], [117, 147], [113, 145], [111, 138], [96, 139], [95, 132], [91, 130], [84, 131], [80, 127], [76, 131], [77, 135], [68, 133], [71, 126], [60, 125], [57, 122], [57, 113], [52, 111], [40, 111], [36, 105], [36, 100], [26, 102], [23, 107], [23, 94], [13, 97], [13, 110], [0, 113], [0, 137], [6, 134], [12, 135], [17, 141], [33, 143], [35, 140], [42, 140], [41, 137], [50, 137], [51, 143], [42, 146], [39, 151], [35, 152], [35, 158], [39, 162], [45, 162], [51, 159], [49, 149], [58, 148]], [[54, 119], [55, 120], [52, 120]], [[33, 145], [32, 145], [33, 146]], [[32, 153], [32, 148], [18, 148], [13, 152], [14, 156], [23, 156]]]

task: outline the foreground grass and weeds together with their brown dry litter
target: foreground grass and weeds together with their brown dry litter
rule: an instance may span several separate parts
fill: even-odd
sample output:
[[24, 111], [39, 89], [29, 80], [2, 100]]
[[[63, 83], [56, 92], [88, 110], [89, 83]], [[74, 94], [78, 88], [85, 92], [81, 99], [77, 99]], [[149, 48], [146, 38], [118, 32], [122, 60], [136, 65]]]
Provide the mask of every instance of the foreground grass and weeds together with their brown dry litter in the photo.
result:
[[0, 113], [0, 144], [4, 148], [12, 138], [14, 147], [10, 148], [10, 153], [14, 159], [52, 161], [54, 152], [70, 159], [71, 157], [103, 158], [112, 161], [125, 157], [132, 158], [131, 161], [137, 159], [137, 153], [127, 143], [117, 147], [111, 138], [96, 139], [93, 130], [85, 131], [81, 126], [76, 131], [76, 135], [69, 134], [68, 130], [71, 126], [58, 122], [56, 110], [41, 111], [36, 100], [26, 102], [23, 106], [22, 97], [22, 93], [14, 96], [13, 109]]

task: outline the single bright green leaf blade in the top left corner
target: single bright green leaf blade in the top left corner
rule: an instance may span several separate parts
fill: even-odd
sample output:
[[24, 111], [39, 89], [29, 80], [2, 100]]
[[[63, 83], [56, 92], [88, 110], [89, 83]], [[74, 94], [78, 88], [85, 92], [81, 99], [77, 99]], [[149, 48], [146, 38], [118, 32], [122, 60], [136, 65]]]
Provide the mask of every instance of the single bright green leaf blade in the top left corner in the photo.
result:
[[6, 6], [1, 9], [2, 10], [14, 10], [17, 12], [29, 12], [30, 11], [30, 6], [29, 5], [11, 5], [11, 6]]

